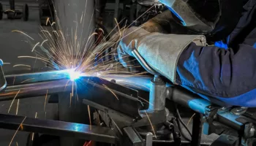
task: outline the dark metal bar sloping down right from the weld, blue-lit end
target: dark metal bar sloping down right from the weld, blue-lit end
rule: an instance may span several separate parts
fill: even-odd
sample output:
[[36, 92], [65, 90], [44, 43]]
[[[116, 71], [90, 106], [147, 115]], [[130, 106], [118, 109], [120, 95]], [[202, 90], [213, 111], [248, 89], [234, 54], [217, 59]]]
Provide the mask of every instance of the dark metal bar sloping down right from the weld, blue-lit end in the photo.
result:
[[93, 101], [135, 119], [141, 118], [139, 110], [142, 103], [138, 99], [138, 91], [99, 77], [81, 77], [80, 80], [83, 82], [77, 82], [79, 98]]

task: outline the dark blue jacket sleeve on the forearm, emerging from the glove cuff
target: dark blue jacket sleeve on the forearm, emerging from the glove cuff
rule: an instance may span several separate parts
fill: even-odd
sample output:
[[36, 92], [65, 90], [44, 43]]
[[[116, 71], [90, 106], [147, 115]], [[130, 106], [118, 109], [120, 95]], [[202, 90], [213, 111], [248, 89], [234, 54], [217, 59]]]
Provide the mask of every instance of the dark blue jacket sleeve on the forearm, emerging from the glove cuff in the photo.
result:
[[241, 44], [225, 50], [191, 43], [178, 59], [176, 82], [206, 99], [256, 107], [256, 49]]

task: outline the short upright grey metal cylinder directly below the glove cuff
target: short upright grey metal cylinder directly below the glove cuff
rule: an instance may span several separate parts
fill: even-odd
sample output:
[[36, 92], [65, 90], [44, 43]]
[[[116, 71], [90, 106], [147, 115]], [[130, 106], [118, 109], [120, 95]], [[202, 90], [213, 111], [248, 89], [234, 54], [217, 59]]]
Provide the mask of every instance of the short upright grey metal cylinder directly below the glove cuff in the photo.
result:
[[165, 110], [166, 84], [160, 77], [155, 76], [151, 80], [151, 88], [149, 92], [149, 111]]

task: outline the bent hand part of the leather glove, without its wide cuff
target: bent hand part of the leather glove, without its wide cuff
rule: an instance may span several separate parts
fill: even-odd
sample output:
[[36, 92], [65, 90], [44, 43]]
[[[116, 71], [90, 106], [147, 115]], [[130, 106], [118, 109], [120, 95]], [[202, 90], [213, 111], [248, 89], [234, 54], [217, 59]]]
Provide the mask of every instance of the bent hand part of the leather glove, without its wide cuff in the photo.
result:
[[122, 32], [122, 38], [118, 42], [117, 57], [118, 61], [125, 67], [138, 65], [138, 61], [132, 56], [132, 50], [137, 49], [140, 39], [150, 34], [148, 31], [139, 27], [127, 28]]

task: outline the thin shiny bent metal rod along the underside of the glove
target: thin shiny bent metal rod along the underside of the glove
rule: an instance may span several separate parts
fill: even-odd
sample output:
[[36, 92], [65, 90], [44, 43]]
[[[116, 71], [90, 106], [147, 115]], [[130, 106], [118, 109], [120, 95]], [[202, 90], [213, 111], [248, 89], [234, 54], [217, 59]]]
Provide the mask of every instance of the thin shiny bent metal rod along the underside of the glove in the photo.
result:
[[159, 75], [159, 73], [152, 69], [151, 66], [148, 66], [144, 58], [140, 55], [140, 53], [138, 53], [138, 50], [132, 50], [132, 55], [135, 56], [135, 58], [140, 62], [140, 65], [143, 66], [143, 68], [146, 69], [147, 72], [154, 75]]

